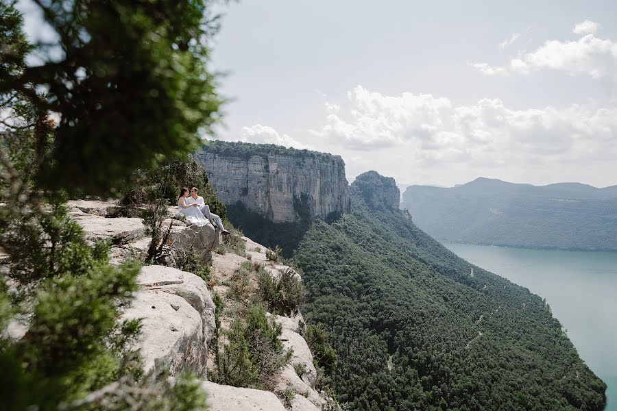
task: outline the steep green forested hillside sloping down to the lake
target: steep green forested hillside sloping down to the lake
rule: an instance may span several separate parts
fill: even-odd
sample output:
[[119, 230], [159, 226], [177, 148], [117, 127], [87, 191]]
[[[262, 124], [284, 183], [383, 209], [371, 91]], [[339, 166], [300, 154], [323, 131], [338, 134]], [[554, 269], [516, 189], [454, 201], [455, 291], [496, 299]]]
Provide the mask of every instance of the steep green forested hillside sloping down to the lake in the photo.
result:
[[406, 211], [367, 206], [313, 225], [294, 261], [309, 323], [339, 356], [354, 410], [602, 410], [588, 369], [542, 298], [461, 260]]

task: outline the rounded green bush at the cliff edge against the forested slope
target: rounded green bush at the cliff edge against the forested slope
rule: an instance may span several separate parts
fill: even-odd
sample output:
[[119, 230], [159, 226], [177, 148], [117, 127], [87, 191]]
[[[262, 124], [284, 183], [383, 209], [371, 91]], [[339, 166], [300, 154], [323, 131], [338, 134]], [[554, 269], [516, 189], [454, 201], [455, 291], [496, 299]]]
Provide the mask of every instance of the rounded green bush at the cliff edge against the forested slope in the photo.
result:
[[258, 297], [267, 303], [268, 310], [280, 315], [293, 315], [304, 303], [304, 286], [292, 269], [274, 277], [261, 268], [257, 273]]

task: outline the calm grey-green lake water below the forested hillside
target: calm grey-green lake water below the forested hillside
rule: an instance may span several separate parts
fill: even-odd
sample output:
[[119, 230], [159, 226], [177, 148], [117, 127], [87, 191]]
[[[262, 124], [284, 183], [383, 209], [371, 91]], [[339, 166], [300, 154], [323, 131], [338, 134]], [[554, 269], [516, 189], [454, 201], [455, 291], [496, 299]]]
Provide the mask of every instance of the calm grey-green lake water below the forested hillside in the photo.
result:
[[579, 356], [608, 385], [605, 411], [617, 411], [617, 253], [444, 245], [546, 298]]

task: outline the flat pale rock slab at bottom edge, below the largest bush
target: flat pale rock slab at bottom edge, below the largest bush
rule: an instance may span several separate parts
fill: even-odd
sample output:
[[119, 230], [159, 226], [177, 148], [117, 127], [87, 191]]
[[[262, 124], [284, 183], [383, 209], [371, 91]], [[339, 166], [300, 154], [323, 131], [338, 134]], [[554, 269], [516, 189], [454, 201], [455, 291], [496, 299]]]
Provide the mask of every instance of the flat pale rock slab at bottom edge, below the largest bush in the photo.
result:
[[202, 382], [210, 411], [285, 411], [273, 393]]

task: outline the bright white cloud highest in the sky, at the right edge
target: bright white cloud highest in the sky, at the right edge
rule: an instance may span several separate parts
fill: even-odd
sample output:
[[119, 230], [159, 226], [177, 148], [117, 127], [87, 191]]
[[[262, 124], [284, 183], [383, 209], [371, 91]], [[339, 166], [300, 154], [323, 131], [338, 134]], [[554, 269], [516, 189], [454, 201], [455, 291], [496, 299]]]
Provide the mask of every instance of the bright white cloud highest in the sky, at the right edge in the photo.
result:
[[519, 53], [507, 66], [481, 62], [471, 65], [485, 75], [553, 70], [617, 82], [617, 42], [594, 36], [597, 27], [597, 23], [591, 21], [579, 23], [574, 32], [586, 33], [585, 36], [572, 41], [548, 40], [535, 51]]

